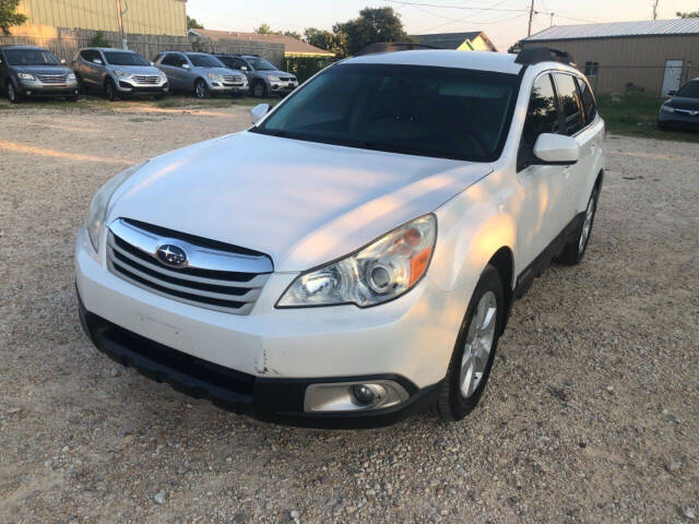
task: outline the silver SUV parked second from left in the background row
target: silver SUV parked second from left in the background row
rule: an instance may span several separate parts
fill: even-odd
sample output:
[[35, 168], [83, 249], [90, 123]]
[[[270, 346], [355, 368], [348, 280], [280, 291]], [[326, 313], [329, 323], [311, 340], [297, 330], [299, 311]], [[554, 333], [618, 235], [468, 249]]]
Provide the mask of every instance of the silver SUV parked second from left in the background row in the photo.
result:
[[134, 51], [91, 47], [81, 49], [71, 63], [84, 90], [104, 92], [107, 99], [134, 95], [167, 96], [167, 76]]

